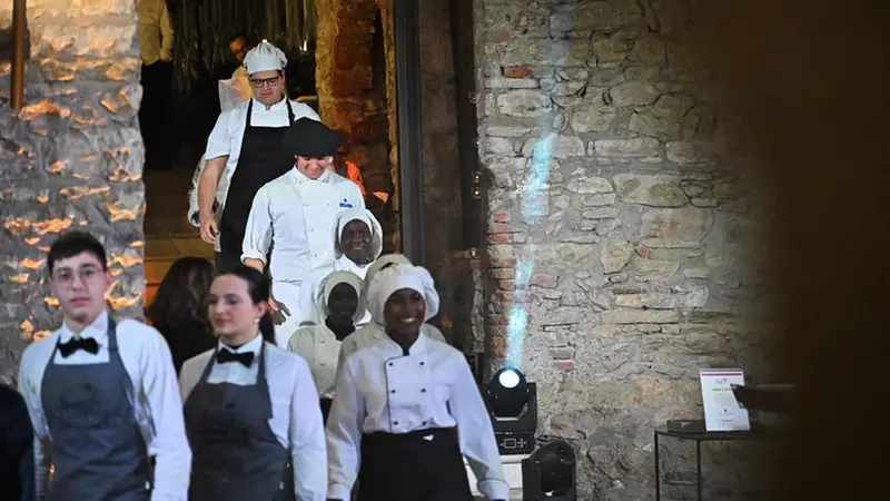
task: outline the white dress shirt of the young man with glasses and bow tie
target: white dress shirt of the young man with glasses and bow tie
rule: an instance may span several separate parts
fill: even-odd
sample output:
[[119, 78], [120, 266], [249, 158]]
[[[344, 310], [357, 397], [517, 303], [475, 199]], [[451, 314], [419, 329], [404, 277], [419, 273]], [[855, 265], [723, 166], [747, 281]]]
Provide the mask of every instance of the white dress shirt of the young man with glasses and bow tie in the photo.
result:
[[[170, 348], [155, 327], [132, 320], [122, 320], [116, 326], [118, 351], [123, 369], [134, 385], [134, 409], [142, 431], [148, 454], [155, 456], [155, 485], [152, 501], [186, 501], [191, 474], [191, 449], [182, 421], [182, 404], [176, 387]], [[52, 463], [52, 436], [49, 434], [41, 390], [43, 372], [56, 344], [67, 343], [72, 333], [66, 325], [51, 335], [29, 345], [19, 366], [19, 392], [28, 404], [34, 429], [34, 465], [37, 495], [47, 489], [49, 466]], [[80, 337], [92, 337], [99, 344], [93, 354], [78, 351], [63, 357], [56, 353], [58, 365], [86, 365], [108, 363], [108, 313], [102, 312], [92, 324], [80, 332]]]

